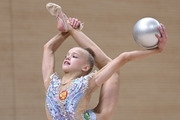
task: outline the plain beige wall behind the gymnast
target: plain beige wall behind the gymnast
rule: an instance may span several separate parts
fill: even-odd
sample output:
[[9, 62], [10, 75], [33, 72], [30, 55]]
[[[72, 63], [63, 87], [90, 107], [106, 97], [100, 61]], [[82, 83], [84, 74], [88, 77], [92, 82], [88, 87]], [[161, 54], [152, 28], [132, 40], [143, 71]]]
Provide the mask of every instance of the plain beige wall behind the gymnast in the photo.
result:
[[[41, 76], [43, 45], [53, 37], [56, 20], [45, 9], [48, 0], [1, 0], [0, 3], [0, 120], [45, 120]], [[52, 0], [69, 17], [85, 22], [83, 31], [111, 58], [141, 49], [132, 28], [142, 17], [154, 17], [168, 31], [166, 50], [125, 65], [121, 95], [113, 120], [180, 119], [179, 0]], [[57, 71], [69, 38], [57, 53]], [[60, 52], [63, 55], [60, 56]], [[89, 108], [96, 105], [97, 91]], [[107, 103], [108, 105], [108, 103]]]

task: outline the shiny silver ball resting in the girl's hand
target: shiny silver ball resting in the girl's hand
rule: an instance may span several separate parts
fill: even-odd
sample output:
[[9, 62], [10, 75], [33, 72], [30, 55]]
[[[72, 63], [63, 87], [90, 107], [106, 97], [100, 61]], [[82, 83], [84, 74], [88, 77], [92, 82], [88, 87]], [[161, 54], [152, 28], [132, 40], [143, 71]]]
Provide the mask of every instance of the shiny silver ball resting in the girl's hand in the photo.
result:
[[158, 26], [160, 26], [160, 23], [150, 17], [137, 21], [133, 28], [133, 37], [136, 43], [146, 49], [156, 48], [158, 39], [155, 34], [160, 35]]

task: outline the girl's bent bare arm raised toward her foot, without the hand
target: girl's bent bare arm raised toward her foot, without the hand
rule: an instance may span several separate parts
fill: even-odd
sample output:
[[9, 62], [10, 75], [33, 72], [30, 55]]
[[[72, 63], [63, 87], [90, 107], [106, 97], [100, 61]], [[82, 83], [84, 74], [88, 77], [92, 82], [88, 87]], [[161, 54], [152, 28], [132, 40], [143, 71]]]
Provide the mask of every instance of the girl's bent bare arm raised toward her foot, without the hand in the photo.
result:
[[52, 75], [55, 72], [54, 53], [68, 36], [68, 33], [58, 33], [44, 45], [42, 59], [42, 76], [44, 80], [45, 89], [47, 89], [49, 86], [50, 75]]

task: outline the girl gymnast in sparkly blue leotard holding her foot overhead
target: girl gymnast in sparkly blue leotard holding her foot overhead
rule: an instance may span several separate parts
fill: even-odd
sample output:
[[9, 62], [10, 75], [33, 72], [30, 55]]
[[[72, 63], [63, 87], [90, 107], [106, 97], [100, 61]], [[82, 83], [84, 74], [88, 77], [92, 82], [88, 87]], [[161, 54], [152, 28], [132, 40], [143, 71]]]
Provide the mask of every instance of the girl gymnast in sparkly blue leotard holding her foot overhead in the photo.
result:
[[[55, 37], [53, 37], [44, 46], [42, 71], [43, 71], [44, 85], [47, 92], [46, 108], [49, 119], [54, 119], [54, 120], [88, 119], [87, 118], [88, 116], [86, 116], [86, 114], [84, 113], [86, 112], [86, 106], [94, 90], [96, 90], [101, 84], [106, 82], [108, 79], [110, 80], [108, 80], [107, 82], [113, 80], [111, 77], [112, 75], [115, 75], [115, 77], [117, 77], [115, 78], [116, 79], [115, 81], [117, 81], [118, 76], [116, 76], [116, 71], [118, 71], [119, 68], [123, 66], [125, 63], [131, 60], [144, 58], [149, 55], [162, 52], [166, 43], [166, 34], [165, 34], [166, 32], [164, 31], [165, 29], [163, 28], [164, 26], [162, 25], [162, 28], [159, 28], [162, 37], [156, 35], [157, 38], [159, 39], [159, 44], [157, 49], [125, 52], [120, 54], [117, 58], [111, 61], [101, 50], [99, 50], [99, 48], [92, 41], [90, 41], [90, 39], [87, 36], [85, 36], [81, 31], [75, 30], [71, 27], [71, 26], [74, 26], [74, 28], [78, 27], [79, 22], [69, 19], [68, 20], [69, 23], [67, 24], [66, 19], [63, 18], [65, 17], [65, 15], [62, 13], [61, 9], [54, 4], [51, 4], [48, 10], [52, 15], [58, 18], [58, 29], [62, 32], [56, 35]], [[71, 26], [69, 24], [71, 24]], [[73, 38], [80, 46], [83, 47], [89, 46], [93, 50], [95, 49], [98, 50], [98, 53], [96, 52], [95, 54], [95, 61], [97, 63], [98, 68], [102, 68], [105, 64], [107, 63], [108, 64], [102, 69], [100, 69], [98, 72], [88, 74], [92, 69], [92, 65], [93, 65], [92, 64], [93, 57], [88, 53], [91, 50], [77, 48], [77, 47], [72, 48], [68, 52], [67, 57], [63, 62], [62, 66], [65, 75], [62, 77], [62, 79], [60, 79], [57, 76], [57, 74], [54, 73], [55, 72], [54, 53], [58, 49], [58, 47], [62, 44], [62, 42], [69, 36], [69, 34], [73, 36]], [[86, 44], [86, 41], [88, 41], [88, 43], [90, 44]], [[101, 53], [103, 55], [101, 55]], [[105, 57], [106, 59], [105, 60], [101, 59], [101, 56]], [[101, 61], [102, 63], [100, 63], [99, 61]], [[107, 89], [112, 89], [112, 88], [106, 85], [106, 88], [104, 90]], [[104, 97], [104, 95], [102, 95], [102, 97]], [[103, 101], [101, 102], [104, 102], [104, 100], [105, 99], [103, 99]], [[117, 101], [117, 100], [110, 100], [110, 101]], [[109, 101], [107, 102], [109, 103]], [[100, 106], [101, 107], [97, 107], [97, 109], [101, 111], [102, 106], [104, 107], [104, 105], [100, 103]], [[114, 109], [114, 107], [112, 107], [112, 109]], [[87, 113], [90, 114], [89, 117], [94, 117], [92, 118], [92, 120], [96, 119], [95, 118], [96, 116], [93, 116], [94, 113], [92, 113], [92, 111], [87, 111]], [[101, 117], [97, 119], [101, 119]]]

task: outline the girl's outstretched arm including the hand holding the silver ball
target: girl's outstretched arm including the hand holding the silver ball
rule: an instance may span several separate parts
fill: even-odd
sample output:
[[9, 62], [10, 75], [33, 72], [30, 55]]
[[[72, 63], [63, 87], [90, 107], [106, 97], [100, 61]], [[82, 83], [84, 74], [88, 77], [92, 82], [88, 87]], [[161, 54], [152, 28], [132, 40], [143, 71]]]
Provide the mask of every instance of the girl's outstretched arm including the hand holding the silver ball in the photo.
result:
[[[161, 33], [161, 36], [158, 36], [156, 34], [156, 37], [159, 40], [158, 48], [152, 49], [152, 50], [135, 50], [131, 52], [124, 52], [120, 54], [117, 58], [115, 58], [113, 61], [108, 63], [105, 67], [103, 67], [100, 71], [98, 71], [92, 80], [91, 88], [97, 88], [101, 84], [103, 84], [105, 81], [107, 81], [113, 73], [115, 73], [118, 69], [120, 69], [125, 63], [129, 61], [133, 61], [136, 59], [142, 59], [145, 57], [148, 57], [153, 54], [160, 53], [164, 50], [165, 44], [167, 41], [167, 33], [166, 29], [163, 24], [159, 27], [159, 31]], [[94, 81], [94, 82], [93, 82]]]

